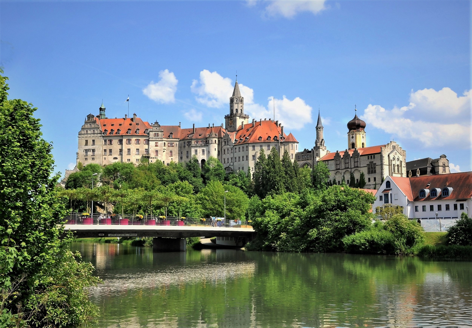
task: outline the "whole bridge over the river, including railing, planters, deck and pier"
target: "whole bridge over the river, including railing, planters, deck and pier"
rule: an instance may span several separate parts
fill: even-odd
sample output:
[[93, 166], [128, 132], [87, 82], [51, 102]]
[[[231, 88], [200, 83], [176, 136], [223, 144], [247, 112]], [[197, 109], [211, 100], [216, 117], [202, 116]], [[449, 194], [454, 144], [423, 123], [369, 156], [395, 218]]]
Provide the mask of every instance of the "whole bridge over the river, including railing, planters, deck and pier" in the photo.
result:
[[[134, 218], [135, 219], [135, 218]], [[185, 238], [219, 237], [217, 244], [244, 246], [255, 236], [253, 227], [241, 221], [208, 219], [111, 219], [95, 215], [92, 218], [70, 216], [64, 229], [78, 238], [153, 237], [154, 251], [185, 251]], [[126, 220], [126, 221], [125, 221]], [[173, 225], [171, 225], [171, 222]]]

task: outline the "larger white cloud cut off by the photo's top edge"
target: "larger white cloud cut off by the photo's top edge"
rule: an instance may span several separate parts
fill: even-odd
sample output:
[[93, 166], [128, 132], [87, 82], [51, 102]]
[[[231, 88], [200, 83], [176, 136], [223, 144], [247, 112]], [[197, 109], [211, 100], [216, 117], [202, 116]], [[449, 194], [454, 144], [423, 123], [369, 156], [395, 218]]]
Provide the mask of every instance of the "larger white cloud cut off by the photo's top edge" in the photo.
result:
[[264, 14], [266, 16], [281, 15], [286, 18], [293, 18], [303, 11], [318, 14], [323, 9], [326, 9], [325, 0], [273, 0], [269, 1]]

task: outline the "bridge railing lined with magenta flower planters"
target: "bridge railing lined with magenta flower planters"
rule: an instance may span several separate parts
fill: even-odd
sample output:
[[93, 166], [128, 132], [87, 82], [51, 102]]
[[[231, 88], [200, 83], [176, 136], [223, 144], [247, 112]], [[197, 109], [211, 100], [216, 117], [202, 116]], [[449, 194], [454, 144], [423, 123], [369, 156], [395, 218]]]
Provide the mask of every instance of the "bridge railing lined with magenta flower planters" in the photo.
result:
[[71, 213], [64, 218], [66, 224], [122, 225], [122, 226], [206, 226], [251, 227], [251, 221], [223, 218], [184, 218], [145, 215]]

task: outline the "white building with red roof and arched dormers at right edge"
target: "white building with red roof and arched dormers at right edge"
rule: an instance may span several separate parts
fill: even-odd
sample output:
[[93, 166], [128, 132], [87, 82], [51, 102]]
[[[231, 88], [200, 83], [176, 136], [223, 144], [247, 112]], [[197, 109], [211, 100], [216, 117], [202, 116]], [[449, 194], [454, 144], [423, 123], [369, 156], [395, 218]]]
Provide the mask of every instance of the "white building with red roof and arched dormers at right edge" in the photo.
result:
[[426, 231], [445, 231], [463, 212], [472, 213], [472, 172], [388, 176], [375, 196], [374, 209], [385, 204], [399, 205], [408, 218], [420, 219]]

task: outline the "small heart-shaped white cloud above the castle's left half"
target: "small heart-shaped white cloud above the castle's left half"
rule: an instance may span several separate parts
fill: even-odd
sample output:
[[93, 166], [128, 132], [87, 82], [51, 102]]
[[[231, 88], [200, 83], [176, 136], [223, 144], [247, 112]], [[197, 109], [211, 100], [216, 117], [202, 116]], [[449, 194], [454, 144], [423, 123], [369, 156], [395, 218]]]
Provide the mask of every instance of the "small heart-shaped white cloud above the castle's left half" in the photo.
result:
[[157, 83], [151, 81], [148, 86], [143, 89], [143, 94], [149, 99], [160, 103], [175, 102], [175, 93], [177, 91], [178, 80], [174, 73], [165, 69], [159, 72], [160, 80]]

